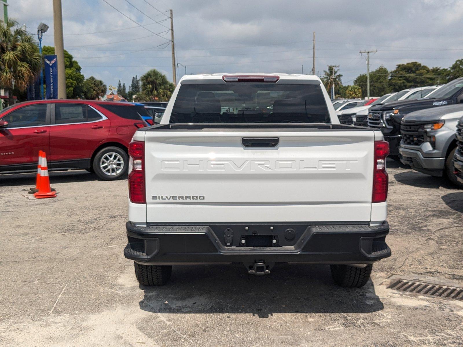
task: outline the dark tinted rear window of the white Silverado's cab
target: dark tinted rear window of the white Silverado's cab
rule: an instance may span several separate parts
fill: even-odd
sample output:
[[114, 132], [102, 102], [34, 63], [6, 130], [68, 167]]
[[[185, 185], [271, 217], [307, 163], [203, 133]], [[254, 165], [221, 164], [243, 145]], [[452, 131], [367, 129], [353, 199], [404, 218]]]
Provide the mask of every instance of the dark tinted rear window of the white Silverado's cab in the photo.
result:
[[330, 123], [320, 85], [181, 85], [170, 123]]

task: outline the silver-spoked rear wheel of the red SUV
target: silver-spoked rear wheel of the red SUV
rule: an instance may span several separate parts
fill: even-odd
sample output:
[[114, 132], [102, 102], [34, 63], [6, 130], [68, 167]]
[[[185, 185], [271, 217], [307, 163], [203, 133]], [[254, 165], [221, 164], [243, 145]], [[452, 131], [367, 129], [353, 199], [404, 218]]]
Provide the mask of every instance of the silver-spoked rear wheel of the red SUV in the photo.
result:
[[129, 156], [119, 147], [106, 147], [95, 155], [92, 167], [101, 180], [119, 180], [127, 174]]

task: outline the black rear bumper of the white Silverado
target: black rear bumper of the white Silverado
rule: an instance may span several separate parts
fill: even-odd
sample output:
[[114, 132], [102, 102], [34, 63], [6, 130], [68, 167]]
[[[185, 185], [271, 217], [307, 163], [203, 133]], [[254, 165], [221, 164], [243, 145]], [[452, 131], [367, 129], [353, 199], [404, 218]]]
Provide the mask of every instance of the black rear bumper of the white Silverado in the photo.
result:
[[[294, 226], [296, 223], [288, 223], [276, 225], [275, 229], [270, 229], [275, 224], [269, 223], [250, 225], [249, 229], [244, 225], [248, 224], [140, 227], [128, 222], [129, 242], [124, 255], [146, 265], [233, 262], [369, 264], [391, 255], [385, 242], [389, 233], [387, 222], [380, 226], [303, 223]], [[285, 234], [288, 229], [294, 231], [291, 241]], [[255, 240], [254, 236], [258, 236], [257, 239], [262, 236], [264, 243], [268, 238], [271, 246], [247, 247], [241, 243]], [[226, 242], [230, 245], [226, 246]]]

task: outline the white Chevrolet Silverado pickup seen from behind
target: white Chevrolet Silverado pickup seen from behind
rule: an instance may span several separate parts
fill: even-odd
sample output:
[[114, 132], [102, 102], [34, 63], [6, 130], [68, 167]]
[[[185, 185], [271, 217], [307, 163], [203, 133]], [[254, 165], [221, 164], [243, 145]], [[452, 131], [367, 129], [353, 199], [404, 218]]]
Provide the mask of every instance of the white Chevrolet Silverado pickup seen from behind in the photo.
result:
[[367, 283], [385, 242], [388, 143], [339, 124], [318, 77], [184, 76], [130, 144], [126, 258], [141, 285], [175, 265], [329, 264]]

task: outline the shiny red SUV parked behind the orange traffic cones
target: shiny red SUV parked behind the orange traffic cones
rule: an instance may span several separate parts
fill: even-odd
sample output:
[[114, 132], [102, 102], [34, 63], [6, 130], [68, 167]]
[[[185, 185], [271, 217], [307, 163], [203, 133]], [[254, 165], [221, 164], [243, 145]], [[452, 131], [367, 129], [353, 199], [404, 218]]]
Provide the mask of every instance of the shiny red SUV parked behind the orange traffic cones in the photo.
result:
[[147, 126], [143, 106], [88, 100], [28, 101], [0, 113], [0, 174], [34, 172], [38, 151], [50, 170], [86, 169], [102, 180], [127, 173], [127, 148]]

